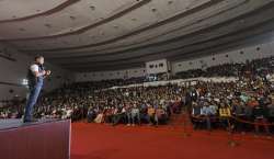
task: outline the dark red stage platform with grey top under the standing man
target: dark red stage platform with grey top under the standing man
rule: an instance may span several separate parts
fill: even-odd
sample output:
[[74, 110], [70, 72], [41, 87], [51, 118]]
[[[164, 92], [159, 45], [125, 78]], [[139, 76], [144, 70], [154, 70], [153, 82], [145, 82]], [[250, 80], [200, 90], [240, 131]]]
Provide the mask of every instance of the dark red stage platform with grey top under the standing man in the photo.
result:
[[0, 158], [69, 159], [70, 120], [0, 120]]

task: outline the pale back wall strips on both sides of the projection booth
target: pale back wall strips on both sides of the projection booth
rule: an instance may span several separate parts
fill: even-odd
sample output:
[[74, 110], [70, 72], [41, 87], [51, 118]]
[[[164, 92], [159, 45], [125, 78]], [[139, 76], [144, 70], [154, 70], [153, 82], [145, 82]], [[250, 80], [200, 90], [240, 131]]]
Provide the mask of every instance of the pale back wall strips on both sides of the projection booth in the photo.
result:
[[[229, 52], [213, 53], [212, 55], [194, 58], [191, 60], [179, 60], [171, 64], [172, 73], [190, 69], [207, 68], [227, 63], [246, 63], [256, 58], [274, 56], [274, 41], [237, 48]], [[125, 79], [146, 76], [146, 68], [135, 68], [114, 71], [96, 71], [76, 73], [76, 81], [100, 81], [106, 79]]]

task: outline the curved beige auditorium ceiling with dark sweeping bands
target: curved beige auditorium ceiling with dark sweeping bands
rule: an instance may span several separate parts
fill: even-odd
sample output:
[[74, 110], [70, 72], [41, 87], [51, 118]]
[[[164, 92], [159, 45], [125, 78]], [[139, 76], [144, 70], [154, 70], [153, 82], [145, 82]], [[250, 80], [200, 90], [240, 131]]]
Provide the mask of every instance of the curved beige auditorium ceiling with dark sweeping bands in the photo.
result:
[[212, 55], [274, 30], [274, 0], [0, 0], [0, 43], [72, 71]]

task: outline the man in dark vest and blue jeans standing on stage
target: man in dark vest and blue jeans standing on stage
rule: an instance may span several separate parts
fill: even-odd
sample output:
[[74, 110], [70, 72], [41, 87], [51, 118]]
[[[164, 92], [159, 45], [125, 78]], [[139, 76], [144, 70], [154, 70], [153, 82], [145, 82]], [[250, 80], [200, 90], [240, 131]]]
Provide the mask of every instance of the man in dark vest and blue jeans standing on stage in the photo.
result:
[[33, 118], [33, 110], [43, 88], [43, 81], [46, 76], [50, 75], [50, 70], [45, 70], [43, 67], [44, 57], [36, 56], [35, 61], [27, 71], [30, 94], [25, 106], [24, 123], [36, 122]]

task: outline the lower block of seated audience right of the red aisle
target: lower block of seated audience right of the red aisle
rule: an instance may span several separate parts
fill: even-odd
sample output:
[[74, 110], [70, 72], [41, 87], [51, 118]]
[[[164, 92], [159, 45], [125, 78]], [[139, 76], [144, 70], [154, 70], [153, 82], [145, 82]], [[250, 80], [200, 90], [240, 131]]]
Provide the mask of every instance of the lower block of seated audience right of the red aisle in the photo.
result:
[[[237, 130], [255, 129], [260, 126], [270, 134], [273, 117], [273, 83], [261, 77], [237, 82], [199, 82], [195, 86], [198, 96], [192, 100], [192, 122], [194, 128], [204, 125], [207, 129], [226, 127]], [[201, 124], [202, 123], [202, 124]], [[203, 124], [204, 123], [204, 124]]]

